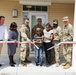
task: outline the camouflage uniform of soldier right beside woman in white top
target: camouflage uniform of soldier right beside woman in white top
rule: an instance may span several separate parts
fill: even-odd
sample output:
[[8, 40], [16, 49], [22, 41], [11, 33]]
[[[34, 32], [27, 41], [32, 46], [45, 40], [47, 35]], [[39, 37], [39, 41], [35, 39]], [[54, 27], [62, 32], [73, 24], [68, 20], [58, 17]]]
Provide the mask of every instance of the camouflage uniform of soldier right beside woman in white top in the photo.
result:
[[[53, 34], [54, 34], [53, 42], [56, 45], [56, 44], [60, 43], [60, 41], [61, 41], [61, 39], [60, 39], [61, 38], [61, 27], [57, 26], [57, 28], [53, 28]], [[55, 47], [55, 60], [56, 60], [56, 63], [60, 62], [59, 51], [60, 51], [60, 46]]]

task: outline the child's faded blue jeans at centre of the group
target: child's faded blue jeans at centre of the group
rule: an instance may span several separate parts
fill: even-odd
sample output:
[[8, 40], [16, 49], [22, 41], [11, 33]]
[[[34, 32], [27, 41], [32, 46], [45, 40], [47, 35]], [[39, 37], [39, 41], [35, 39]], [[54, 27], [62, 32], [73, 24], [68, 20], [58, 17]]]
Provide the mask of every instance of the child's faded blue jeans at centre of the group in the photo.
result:
[[42, 64], [43, 63], [43, 48], [42, 46], [39, 47], [39, 49], [35, 48], [35, 57], [36, 57], [36, 64]]

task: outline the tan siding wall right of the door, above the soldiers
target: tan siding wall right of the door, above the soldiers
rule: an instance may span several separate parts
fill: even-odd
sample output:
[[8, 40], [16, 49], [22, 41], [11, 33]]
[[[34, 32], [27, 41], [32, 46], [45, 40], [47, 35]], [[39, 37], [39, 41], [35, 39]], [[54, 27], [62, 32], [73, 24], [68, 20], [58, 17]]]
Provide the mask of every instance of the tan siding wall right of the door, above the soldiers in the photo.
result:
[[59, 25], [63, 25], [63, 17], [68, 16], [70, 23], [73, 24], [74, 19], [74, 4], [51, 4], [48, 7], [48, 18], [49, 22], [52, 24], [53, 19], [59, 20]]

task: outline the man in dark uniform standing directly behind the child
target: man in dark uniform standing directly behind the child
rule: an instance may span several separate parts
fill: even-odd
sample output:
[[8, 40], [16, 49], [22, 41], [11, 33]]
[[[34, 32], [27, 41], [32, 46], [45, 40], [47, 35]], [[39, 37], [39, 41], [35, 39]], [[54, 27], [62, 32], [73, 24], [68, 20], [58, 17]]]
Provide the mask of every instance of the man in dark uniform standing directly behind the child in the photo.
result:
[[37, 21], [38, 21], [38, 24], [35, 25], [32, 28], [32, 39], [34, 38], [34, 35], [36, 34], [36, 28], [40, 28], [41, 29], [41, 34], [43, 34], [44, 27], [41, 25], [42, 24], [42, 19], [41, 18], [38, 18]]

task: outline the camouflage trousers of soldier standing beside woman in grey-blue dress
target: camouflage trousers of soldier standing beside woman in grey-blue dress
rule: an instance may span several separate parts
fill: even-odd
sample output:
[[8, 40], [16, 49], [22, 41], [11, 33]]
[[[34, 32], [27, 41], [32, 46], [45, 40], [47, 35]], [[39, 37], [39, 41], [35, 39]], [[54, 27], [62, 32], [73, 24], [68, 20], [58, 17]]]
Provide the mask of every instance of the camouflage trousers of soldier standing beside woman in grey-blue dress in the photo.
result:
[[25, 61], [29, 56], [29, 44], [21, 44], [20, 51], [20, 60]]

